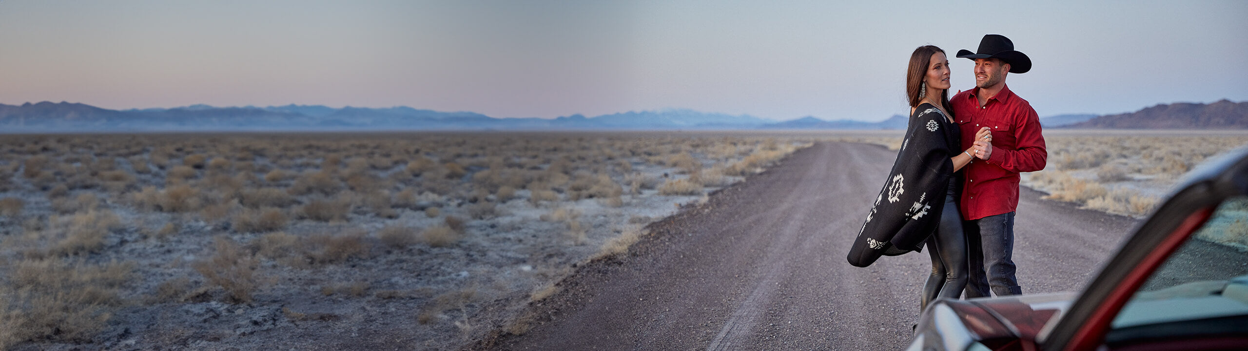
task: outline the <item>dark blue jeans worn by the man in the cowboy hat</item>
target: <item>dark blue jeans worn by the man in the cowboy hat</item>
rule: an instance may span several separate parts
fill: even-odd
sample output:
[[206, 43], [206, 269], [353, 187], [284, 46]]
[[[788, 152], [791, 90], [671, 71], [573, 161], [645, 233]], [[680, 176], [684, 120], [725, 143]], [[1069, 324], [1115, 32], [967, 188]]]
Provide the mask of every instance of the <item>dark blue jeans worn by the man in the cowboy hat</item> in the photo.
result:
[[967, 245], [966, 297], [1022, 295], [1013, 264], [1015, 212], [965, 221]]

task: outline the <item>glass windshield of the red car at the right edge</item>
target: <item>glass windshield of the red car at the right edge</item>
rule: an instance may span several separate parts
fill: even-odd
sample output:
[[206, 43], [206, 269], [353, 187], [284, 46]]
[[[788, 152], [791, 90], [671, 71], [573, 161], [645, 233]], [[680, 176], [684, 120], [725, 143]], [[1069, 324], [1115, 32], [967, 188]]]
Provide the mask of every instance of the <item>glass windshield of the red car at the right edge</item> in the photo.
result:
[[1108, 339], [1114, 339], [1116, 332], [1121, 339], [1156, 329], [1179, 332], [1246, 316], [1248, 197], [1241, 196], [1222, 202], [1204, 226], [1153, 272], [1114, 319]]

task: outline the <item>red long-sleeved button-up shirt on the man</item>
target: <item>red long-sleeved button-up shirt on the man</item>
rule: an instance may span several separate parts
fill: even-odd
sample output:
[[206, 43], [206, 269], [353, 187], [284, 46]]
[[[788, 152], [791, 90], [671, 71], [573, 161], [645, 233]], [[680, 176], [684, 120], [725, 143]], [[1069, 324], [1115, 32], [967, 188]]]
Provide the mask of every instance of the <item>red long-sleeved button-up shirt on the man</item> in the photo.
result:
[[963, 169], [960, 209], [966, 220], [1013, 212], [1018, 209], [1018, 174], [1043, 170], [1048, 159], [1040, 116], [1027, 100], [1005, 86], [980, 106], [978, 92], [978, 87], [962, 91], [948, 101], [962, 129], [962, 150], [971, 149], [976, 131], [992, 127], [992, 154]]

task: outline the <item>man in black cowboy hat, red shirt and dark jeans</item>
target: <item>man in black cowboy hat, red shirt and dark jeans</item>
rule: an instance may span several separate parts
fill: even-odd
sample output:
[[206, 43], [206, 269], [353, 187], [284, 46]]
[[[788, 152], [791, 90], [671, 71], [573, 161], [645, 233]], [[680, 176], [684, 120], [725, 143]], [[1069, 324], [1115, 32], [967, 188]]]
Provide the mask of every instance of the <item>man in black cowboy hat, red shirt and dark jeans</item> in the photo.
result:
[[[1045, 169], [1048, 152], [1036, 110], [1010, 91], [1006, 75], [1027, 72], [1031, 59], [996, 34], [985, 35], [976, 52], [960, 50], [957, 57], [975, 60], [975, 89], [950, 99], [962, 130], [962, 149], [973, 146], [976, 157], [966, 166], [960, 206], [970, 260], [966, 297], [990, 296], [990, 286], [997, 296], [1020, 295], [1011, 257], [1018, 174]], [[985, 126], [992, 129], [992, 136], [973, 140]]]

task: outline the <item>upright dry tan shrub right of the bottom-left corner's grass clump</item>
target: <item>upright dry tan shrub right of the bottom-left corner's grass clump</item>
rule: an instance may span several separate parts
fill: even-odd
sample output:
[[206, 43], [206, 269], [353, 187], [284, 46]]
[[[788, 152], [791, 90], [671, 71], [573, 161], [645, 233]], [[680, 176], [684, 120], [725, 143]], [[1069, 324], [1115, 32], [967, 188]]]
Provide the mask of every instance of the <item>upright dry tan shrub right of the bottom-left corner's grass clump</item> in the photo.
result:
[[208, 284], [225, 289], [227, 301], [251, 301], [251, 294], [261, 282], [256, 274], [260, 262], [250, 251], [225, 236], [217, 236], [213, 247], [216, 252], [211, 257], [196, 261], [191, 267], [203, 275]]

